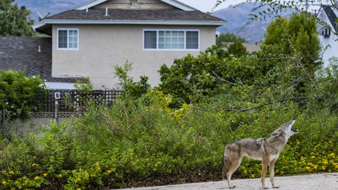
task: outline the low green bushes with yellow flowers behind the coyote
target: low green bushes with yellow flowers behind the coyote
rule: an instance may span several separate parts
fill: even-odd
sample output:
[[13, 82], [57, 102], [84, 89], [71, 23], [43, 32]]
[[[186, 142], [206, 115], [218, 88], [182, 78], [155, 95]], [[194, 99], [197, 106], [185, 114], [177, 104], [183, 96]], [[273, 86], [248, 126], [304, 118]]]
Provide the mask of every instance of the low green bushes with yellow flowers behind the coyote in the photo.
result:
[[[268, 137], [295, 117], [276, 175], [338, 172], [338, 117], [293, 102], [247, 112], [217, 111], [218, 99], [168, 107], [170, 96], [118, 99], [80, 118], [44, 126], [41, 136], [3, 139], [2, 189], [101, 189], [220, 180], [223, 149], [238, 138]], [[179, 114], [177, 114], [179, 113]], [[243, 159], [237, 177], [260, 177], [261, 163]]]

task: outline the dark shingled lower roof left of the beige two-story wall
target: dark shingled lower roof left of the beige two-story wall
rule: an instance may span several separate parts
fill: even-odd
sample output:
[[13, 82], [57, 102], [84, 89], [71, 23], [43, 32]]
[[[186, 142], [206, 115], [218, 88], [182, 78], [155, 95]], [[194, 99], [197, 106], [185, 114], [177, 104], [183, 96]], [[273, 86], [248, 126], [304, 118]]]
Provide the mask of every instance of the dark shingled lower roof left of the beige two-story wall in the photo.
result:
[[0, 69], [26, 71], [48, 82], [76, 82], [80, 78], [52, 77], [51, 37], [0, 37]]

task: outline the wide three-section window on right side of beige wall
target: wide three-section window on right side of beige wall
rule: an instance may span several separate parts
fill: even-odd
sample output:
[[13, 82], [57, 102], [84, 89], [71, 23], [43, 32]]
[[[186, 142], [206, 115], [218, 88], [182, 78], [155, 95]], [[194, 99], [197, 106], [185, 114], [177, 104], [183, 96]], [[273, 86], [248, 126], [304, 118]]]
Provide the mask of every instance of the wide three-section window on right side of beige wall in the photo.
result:
[[199, 30], [152, 30], [143, 32], [144, 50], [198, 50]]

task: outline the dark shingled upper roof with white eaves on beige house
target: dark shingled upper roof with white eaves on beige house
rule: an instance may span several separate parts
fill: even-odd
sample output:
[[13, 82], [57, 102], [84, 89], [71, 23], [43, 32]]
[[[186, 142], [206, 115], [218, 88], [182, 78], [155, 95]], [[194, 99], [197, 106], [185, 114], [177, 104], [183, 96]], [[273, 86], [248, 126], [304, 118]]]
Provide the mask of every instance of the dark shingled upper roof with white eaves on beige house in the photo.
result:
[[[176, 9], [98, 9], [94, 7], [105, 0], [92, 0], [32, 25], [36, 31], [52, 34], [52, 24], [156, 24], [156, 25], [209, 25], [222, 26], [225, 20], [200, 12], [173, 0], [160, 0], [176, 6]], [[183, 6], [183, 8], [182, 8]]]

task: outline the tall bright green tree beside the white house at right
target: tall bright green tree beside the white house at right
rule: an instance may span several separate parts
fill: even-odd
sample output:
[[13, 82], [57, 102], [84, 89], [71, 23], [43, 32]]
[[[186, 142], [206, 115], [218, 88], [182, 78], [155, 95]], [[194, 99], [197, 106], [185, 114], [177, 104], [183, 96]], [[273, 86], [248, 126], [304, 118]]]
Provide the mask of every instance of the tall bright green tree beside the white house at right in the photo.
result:
[[300, 63], [314, 73], [320, 52], [320, 41], [316, 32], [316, 23], [307, 14], [293, 13], [290, 19], [277, 18], [272, 21], [265, 33], [264, 44], [279, 45], [281, 52], [296, 56]]

